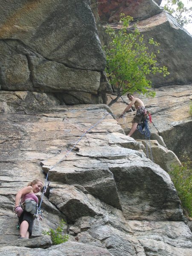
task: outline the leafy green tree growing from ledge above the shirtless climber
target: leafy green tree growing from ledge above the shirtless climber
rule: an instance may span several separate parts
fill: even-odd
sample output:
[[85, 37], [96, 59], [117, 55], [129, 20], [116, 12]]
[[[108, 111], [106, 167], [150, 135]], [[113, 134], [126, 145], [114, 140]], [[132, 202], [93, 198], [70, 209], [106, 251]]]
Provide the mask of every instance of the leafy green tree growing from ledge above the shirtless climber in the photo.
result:
[[[106, 33], [110, 37], [109, 46], [104, 47], [107, 66], [106, 73], [110, 83], [117, 88], [116, 99], [113, 99], [109, 106], [119, 99], [126, 92], [140, 92], [148, 96], [154, 96], [150, 91], [151, 81], [146, 78], [149, 73], [169, 74], [167, 67], [157, 67], [156, 55], [148, 50], [136, 26], [128, 29], [132, 17], [120, 19], [120, 28], [113, 29], [110, 26]], [[158, 47], [159, 44], [150, 38], [148, 44]], [[157, 50], [157, 54], [159, 50]]]

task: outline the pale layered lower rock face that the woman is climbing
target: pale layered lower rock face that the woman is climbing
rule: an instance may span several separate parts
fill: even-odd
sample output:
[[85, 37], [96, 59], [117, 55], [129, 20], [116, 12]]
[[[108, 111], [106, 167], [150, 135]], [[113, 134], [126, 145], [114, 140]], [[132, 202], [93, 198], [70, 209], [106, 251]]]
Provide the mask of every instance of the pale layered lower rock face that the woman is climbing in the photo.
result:
[[[1, 114], [1, 255], [191, 255], [191, 233], [169, 175], [106, 110], [76, 105]], [[32, 239], [18, 241], [15, 194], [47, 173], [44, 221], [35, 224]], [[52, 246], [42, 231], [61, 218], [70, 238]]]

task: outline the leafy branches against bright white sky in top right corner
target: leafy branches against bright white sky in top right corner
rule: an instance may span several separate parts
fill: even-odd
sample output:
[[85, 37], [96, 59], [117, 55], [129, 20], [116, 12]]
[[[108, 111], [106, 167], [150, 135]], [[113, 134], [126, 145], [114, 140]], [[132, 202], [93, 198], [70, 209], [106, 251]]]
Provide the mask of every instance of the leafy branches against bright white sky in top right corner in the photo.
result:
[[[164, 9], [170, 12], [181, 26], [191, 22], [192, 7], [186, 7], [180, 0], [166, 0], [165, 2]], [[189, 2], [192, 2], [192, 0], [187, 1], [187, 3]]]

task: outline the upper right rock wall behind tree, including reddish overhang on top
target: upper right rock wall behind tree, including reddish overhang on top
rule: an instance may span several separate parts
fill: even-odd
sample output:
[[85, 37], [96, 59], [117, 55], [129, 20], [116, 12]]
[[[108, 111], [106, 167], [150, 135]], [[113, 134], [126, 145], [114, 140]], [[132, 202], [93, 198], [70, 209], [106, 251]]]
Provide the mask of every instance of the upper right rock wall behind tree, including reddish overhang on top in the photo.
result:
[[[157, 55], [157, 66], [168, 67], [169, 76], [163, 77], [162, 74], [148, 76], [153, 87], [192, 83], [189, 65], [192, 59], [192, 36], [171, 14], [163, 11], [153, 0], [108, 0], [107, 3], [99, 4], [99, 16], [101, 22], [105, 21], [104, 27], [109, 25], [118, 29], [121, 26], [118, 25], [121, 13], [139, 20], [137, 28], [144, 35], [149, 51]], [[133, 24], [130, 24], [131, 28]], [[107, 44], [108, 37], [105, 32], [102, 31], [100, 35], [104, 44]], [[157, 49], [148, 44], [149, 38], [160, 43], [159, 54]]]

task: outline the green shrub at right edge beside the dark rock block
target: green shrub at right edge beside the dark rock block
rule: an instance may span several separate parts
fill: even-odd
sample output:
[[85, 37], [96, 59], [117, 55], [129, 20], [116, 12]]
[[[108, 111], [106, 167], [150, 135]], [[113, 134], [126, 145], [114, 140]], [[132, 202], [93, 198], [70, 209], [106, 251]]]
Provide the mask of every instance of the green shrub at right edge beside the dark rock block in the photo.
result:
[[180, 166], [173, 166], [169, 175], [177, 189], [183, 209], [192, 217], [192, 161], [184, 157]]

